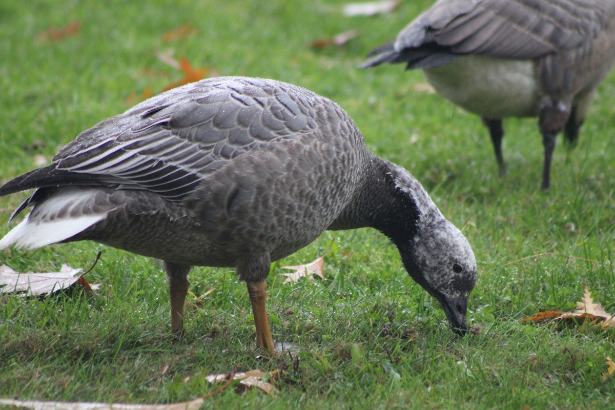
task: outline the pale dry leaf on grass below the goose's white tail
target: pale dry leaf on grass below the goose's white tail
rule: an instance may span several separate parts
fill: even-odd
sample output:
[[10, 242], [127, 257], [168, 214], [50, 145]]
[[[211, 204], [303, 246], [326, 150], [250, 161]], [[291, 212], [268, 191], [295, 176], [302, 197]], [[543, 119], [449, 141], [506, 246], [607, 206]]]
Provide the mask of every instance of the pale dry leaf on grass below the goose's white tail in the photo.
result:
[[20, 296], [43, 296], [62, 289], [69, 288], [75, 283], [84, 286], [87, 290], [98, 289], [100, 285], [87, 283], [81, 273], [82, 269], [74, 269], [62, 265], [60, 272], [28, 272], [20, 274], [6, 265], [0, 266], [0, 293], [19, 293]]

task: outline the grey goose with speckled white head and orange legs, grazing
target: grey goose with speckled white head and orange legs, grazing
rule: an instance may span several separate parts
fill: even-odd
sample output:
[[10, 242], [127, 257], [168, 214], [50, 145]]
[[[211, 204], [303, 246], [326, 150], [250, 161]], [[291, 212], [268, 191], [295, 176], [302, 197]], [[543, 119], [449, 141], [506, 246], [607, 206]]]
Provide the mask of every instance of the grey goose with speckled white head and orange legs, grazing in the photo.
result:
[[162, 93], [82, 132], [0, 195], [30, 188], [10, 219], [33, 209], [0, 248], [93, 240], [162, 259], [173, 334], [191, 267], [235, 267], [257, 345], [271, 352], [271, 262], [325, 229], [367, 226], [397, 245], [453, 331], [467, 330], [476, 262], [464, 235], [408, 171], [367, 151], [343, 109], [294, 85], [219, 77]]

